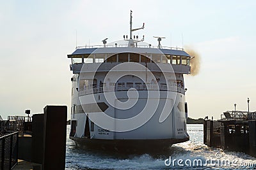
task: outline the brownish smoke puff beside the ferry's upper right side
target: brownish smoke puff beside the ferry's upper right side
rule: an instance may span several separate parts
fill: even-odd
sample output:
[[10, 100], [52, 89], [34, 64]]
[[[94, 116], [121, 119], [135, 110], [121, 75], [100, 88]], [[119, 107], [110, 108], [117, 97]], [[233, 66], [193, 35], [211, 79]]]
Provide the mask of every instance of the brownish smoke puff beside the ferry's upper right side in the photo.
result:
[[193, 59], [190, 60], [190, 66], [191, 66], [191, 75], [195, 76], [199, 73], [200, 71], [200, 61], [201, 61], [201, 57], [198, 54], [198, 52], [196, 52], [195, 50], [193, 50], [193, 48], [189, 47], [189, 46], [185, 46], [185, 51], [191, 56], [194, 57]]

